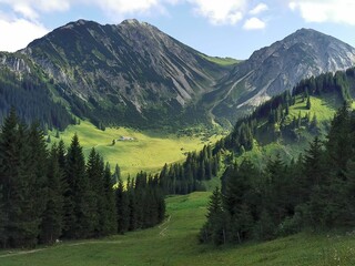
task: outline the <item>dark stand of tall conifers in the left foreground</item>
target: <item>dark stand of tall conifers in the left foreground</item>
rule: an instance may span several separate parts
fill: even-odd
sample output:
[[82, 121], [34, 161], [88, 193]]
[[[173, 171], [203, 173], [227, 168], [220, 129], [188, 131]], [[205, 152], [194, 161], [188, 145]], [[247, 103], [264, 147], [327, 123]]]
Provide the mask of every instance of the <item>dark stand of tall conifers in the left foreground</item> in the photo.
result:
[[165, 205], [158, 181], [140, 173], [125, 187], [118, 168], [112, 176], [94, 149], [85, 162], [77, 134], [68, 149], [62, 141], [48, 149], [40, 126], [21, 123], [12, 109], [0, 132], [1, 246], [33, 247], [160, 223]]

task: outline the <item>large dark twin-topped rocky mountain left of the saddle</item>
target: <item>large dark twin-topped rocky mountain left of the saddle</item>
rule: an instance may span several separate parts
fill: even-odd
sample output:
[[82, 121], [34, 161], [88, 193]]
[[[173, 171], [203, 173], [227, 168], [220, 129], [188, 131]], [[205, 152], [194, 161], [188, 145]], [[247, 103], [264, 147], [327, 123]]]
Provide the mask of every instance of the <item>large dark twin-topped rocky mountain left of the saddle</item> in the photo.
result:
[[181, 121], [182, 111], [227, 73], [226, 66], [138, 20], [105, 25], [79, 20], [21, 53], [60, 84], [71, 105], [78, 105], [77, 115], [105, 124]]

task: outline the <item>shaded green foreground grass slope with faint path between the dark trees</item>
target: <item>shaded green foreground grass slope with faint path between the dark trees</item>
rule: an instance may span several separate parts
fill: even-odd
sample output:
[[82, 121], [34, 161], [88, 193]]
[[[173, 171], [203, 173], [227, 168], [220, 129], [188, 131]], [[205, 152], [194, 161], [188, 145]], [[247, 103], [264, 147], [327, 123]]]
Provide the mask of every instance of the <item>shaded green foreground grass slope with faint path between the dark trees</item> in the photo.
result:
[[355, 235], [298, 234], [266, 243], [214, 247], [197, 244], [210, 193], [168, 198], [169, 218], [151, 229], [100, 241], [63, 243], [6, 256], [0, 265], [355, 265]]

